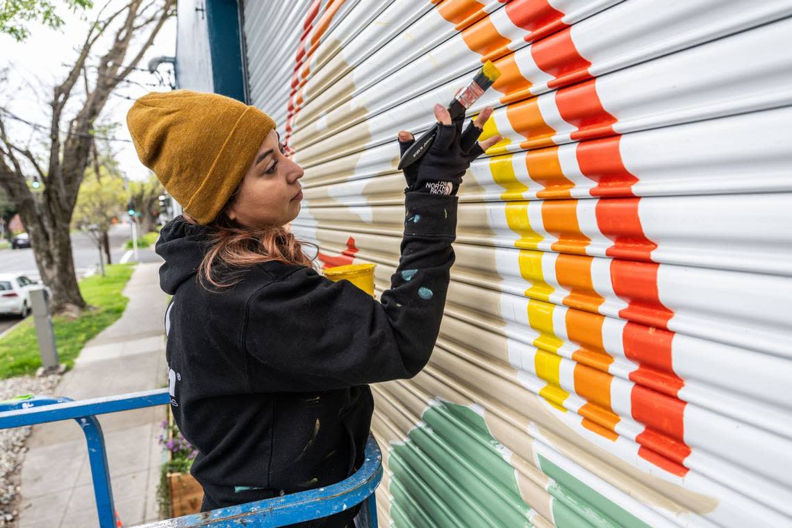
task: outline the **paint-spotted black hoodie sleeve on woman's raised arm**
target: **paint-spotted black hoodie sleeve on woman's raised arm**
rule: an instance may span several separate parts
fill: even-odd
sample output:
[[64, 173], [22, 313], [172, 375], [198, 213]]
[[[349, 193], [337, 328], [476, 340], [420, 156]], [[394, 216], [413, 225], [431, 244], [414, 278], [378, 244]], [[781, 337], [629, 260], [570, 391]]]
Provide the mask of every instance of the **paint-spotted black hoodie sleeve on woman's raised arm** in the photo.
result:
[[432, 354], [454, 263], [457, 198], [406, 192], [402, 257], [376, 301], [300, 268], [255, 292], [244, 345], [253, 392], [412, 378]]

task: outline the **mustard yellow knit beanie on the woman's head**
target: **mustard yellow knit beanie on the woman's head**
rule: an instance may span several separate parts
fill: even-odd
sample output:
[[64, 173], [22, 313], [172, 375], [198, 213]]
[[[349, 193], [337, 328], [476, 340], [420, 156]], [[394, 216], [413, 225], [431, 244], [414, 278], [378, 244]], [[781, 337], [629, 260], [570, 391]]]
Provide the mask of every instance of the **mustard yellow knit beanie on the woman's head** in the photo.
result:
[[201, 224], [217, 217], [275, 128], [258, 108], [186, 89], [140, 97], [127, 125], [140, 161]]

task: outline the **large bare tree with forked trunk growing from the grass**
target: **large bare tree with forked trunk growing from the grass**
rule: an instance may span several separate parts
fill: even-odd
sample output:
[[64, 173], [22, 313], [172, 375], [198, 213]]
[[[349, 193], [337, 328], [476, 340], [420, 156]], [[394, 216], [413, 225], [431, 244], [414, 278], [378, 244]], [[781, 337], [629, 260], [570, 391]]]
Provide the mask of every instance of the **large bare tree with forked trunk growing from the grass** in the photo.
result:
[[[69, 226], [91, 158], [93, 123], [113, 90], [143, 59], [176, 7], [176, 0], [129, 0], [116, 12], [105, 14], [109, 3], [90, 26], [66, 78], [52, 90], [47, 159], [36, 158], [29, 146], [9, 137], [3, 119], [10, 112], [0, 108], [0, 188], [19, 211], [41, 278], [52, 291], [52, 309], [61, 313], [86, 307], [74, 274]], [[100, 37], [111, 34], [109, 49], [91, 59], [97, 55], [94, 46]], [[75, 89], [81, 80], [82, 86]], [[77, 112], [69, 119], [64, 115], [67, 103], [70, 98], [73, 104], [76, 102], [78, 97], [73, 96], [80, 88], [85, 99], [79, 101]], [[40, 189], [30, 188], [26, 166], [32, 168], [32, 178], [40, 182]]]

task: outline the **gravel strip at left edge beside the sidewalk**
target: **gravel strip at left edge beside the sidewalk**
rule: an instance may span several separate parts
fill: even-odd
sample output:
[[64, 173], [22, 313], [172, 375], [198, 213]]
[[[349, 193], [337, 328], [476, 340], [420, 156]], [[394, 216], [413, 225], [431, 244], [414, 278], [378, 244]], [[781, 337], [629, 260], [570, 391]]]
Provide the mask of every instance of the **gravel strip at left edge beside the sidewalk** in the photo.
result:
[[[19, 376], [0, 380], [0, 401], [23, 394], [51, 395], [58, 385], [59, 374], [34, 378]], [[19, 472], [30, 427], [0, 429], [0, 528], [17, 526]]]

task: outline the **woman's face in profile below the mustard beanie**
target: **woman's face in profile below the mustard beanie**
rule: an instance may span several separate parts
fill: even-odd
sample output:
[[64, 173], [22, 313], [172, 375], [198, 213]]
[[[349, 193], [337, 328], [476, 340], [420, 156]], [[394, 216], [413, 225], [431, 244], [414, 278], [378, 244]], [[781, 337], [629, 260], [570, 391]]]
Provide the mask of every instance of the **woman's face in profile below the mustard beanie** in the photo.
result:
[[277, 132], [270, 131], [242, 178], [228, 218], [256, 229], [285, 226], [299, 213], [302, 177], [303, 169], [284, 156]]

